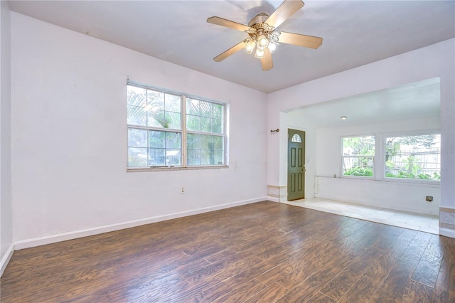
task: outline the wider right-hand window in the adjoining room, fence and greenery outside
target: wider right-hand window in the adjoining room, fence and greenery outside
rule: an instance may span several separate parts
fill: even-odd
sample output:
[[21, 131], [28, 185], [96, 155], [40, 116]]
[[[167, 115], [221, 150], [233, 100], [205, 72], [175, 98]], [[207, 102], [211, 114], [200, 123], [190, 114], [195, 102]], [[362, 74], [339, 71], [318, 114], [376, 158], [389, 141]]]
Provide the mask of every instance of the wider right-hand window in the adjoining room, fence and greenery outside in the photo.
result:
[[385, 176], [402, 179], [441, 179], [441, 135], [385, 139]]

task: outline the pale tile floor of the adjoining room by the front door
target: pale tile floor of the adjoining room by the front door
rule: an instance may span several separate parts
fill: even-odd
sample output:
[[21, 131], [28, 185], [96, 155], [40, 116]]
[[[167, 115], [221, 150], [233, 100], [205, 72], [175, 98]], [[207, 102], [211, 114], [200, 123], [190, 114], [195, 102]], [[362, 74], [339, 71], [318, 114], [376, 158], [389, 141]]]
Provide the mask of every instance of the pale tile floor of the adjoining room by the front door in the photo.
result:
[[412, 230], [422, 230], [425, 233], [439, 234], [439, 217], [394, 211], [387, 208], [363, 206], [360, 204], [327, 200], [322, 198], [309, 198], [296, 201], [282, 202], [294, 206], [311, 208], [326, 213], [335, 213], [341, 216], [368, 220], [376, 223], [394, 225]]

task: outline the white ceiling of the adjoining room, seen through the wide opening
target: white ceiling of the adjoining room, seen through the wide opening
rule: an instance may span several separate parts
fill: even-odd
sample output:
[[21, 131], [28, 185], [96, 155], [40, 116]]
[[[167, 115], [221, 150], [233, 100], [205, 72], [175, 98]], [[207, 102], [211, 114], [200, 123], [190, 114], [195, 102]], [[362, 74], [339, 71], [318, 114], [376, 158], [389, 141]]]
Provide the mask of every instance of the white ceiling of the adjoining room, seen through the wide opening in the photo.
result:
[[[292, 110], [312, 127], [343, 127], [439, 117], [439, 78], [331, 100]], [[341, 119], [342, 116], [347, 119]]]

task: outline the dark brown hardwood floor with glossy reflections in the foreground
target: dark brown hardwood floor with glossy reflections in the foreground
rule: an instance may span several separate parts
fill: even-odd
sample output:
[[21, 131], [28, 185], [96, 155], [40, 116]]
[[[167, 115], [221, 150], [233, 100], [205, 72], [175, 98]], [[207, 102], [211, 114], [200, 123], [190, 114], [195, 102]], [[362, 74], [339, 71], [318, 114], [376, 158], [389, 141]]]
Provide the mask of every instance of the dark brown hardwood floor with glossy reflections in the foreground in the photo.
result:
[[1, 302], [455, 302], [455, 239], [264, 201], [18, 250]]

